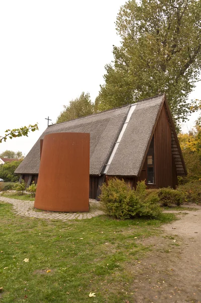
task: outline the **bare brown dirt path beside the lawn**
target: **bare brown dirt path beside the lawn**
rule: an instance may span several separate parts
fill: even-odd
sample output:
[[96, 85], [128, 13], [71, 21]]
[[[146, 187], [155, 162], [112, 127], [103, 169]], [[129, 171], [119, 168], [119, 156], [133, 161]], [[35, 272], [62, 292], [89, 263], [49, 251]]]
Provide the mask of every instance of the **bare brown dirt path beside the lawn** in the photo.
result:
[[201, 207], [175, 213], [180, 220], [164, 225], [162, 236], [144, 240], [153, 248], [131, 269], [133, 302], [201, 303]]

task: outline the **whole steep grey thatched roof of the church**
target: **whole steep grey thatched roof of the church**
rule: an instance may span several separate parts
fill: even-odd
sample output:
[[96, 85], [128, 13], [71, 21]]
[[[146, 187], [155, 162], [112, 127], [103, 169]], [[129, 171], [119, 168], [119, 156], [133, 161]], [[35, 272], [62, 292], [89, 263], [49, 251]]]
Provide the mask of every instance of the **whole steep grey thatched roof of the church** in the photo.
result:
[[[159, 95], [142, 100], [135, 105], [127, 105], [50, 125], [15, 173], [38, 174], [40, 139], [46, 134], [87, 132], [90, 133], [90, 175], [100, 175], [107, 171], [107, 175], [138, 176], [141, 173], [147, 146], [150, 143], [164, 102], [168, 108], [165, 95]], [[177, 174], [184, 175], [186, 174], [185, 164], [169, 110], [168, 115], [173, 133], [172, 154], [173, 157], [176, 155]], [[119, 135], [121, 139], [117, 145], [116, 141], [119, 140]], [[109, 165], [106, 165], [108, 163]]]

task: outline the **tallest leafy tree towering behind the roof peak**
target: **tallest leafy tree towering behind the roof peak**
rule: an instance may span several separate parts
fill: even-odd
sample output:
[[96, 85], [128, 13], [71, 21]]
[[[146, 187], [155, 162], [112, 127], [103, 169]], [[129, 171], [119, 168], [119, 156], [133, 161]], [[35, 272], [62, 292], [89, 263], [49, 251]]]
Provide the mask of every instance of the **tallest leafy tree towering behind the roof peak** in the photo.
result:
[[200, 0], [130, 0], [116, 30], [121, 45], [113, 46], [114, 61], [105, 67], [99, 110], [166, 92], [174, 118], [184, 121], [201, 66]]

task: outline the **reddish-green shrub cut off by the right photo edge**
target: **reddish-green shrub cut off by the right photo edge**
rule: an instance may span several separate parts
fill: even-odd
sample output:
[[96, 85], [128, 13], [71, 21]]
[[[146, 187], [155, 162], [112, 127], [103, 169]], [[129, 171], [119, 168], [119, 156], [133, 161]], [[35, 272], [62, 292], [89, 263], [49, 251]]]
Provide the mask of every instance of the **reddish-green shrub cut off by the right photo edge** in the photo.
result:
[[201, 182], [188, 182], [177, 187], [177, 191], [185, 195], [187, 203], [201, 204]]

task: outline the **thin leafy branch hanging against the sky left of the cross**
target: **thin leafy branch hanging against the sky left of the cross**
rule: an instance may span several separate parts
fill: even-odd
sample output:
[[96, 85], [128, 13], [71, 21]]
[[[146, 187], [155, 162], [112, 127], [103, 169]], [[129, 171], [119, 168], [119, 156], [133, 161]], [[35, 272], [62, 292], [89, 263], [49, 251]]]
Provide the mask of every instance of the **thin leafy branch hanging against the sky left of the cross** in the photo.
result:
[[6, 140], [8, 139], [8, 137], [10, 139], [12, 138], [16, 138], [16, 137], [22, 137], [22, 136], [27, 136], [28, 137], [28, 133], [30, 131], [35, 131], [38, 130], [38, 123], [34, 124], [34, 125], [29, 125], [29, 126], [24, 126], [21, 128], [14, 128], [14, 129], [7, 129], [5, 131], [5, 136], [0, 136], [0, 143], [2, 143], [3, 141], [6, 142]]

